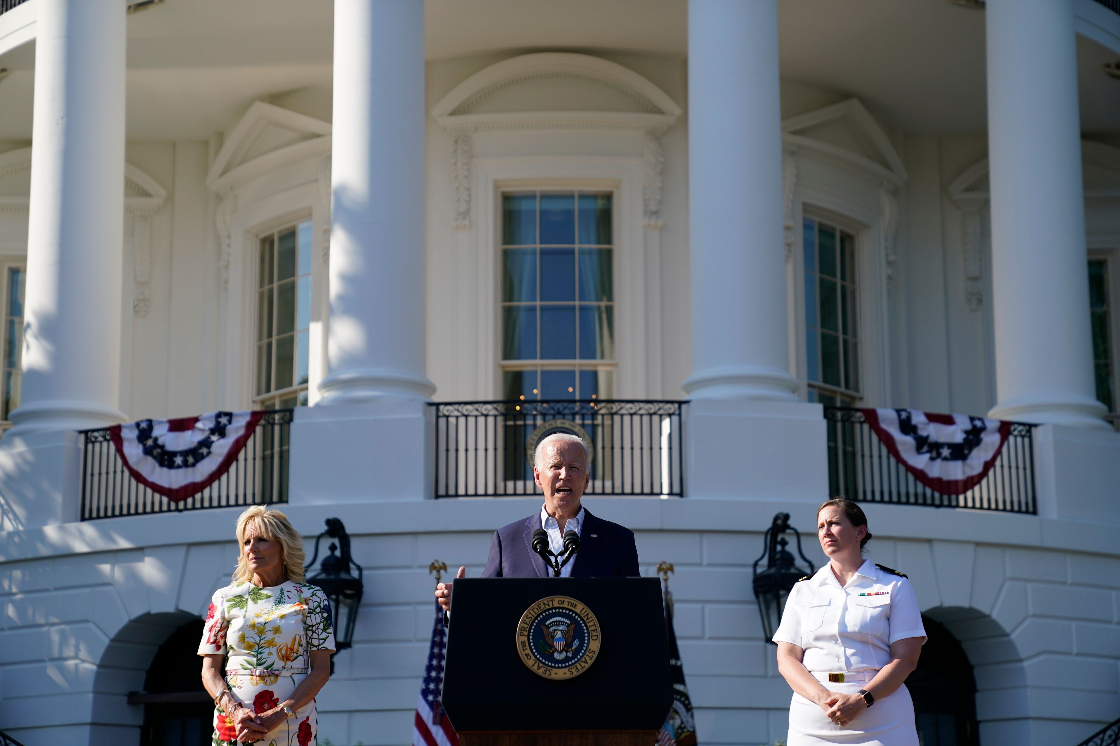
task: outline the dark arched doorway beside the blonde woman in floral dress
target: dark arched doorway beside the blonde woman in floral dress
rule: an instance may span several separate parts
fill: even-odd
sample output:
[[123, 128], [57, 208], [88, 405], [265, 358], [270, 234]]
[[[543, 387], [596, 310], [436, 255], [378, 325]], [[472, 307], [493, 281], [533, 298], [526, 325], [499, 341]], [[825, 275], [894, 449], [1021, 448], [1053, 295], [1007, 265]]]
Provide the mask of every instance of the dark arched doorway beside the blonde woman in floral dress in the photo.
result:
[[129, 696], [143, 705], [140, 746], [209, 746], [214, 703], [203, 688], [198, 641], [203, 621], [187, 622], [159, 646], [148, 668], [143, 692]]

